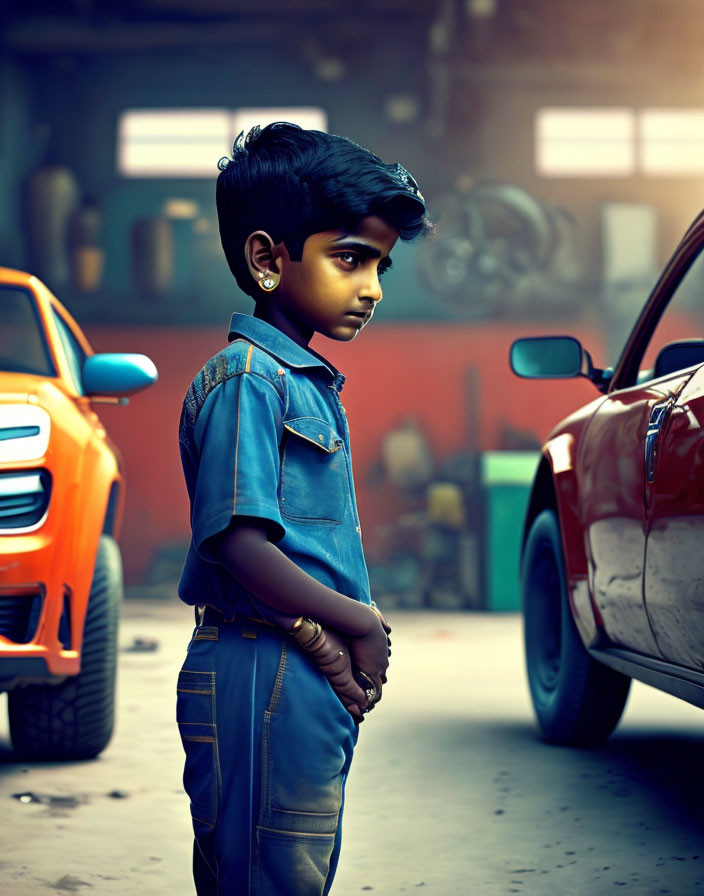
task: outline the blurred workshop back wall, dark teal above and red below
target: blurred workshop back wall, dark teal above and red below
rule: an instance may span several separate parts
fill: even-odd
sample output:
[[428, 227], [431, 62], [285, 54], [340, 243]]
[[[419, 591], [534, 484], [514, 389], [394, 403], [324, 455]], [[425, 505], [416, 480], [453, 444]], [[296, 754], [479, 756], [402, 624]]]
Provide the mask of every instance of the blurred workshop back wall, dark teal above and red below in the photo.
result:
[[[443, 61], [440, 54], [430, 60], [428, 37], [424, 28], [405, 41], [388, 31], [367, 35], [368, 52], [350, 57], [338, 81], [316, 75], [300, 42], [282, 40], [272, 48], [211, 45], [182, 52], [130, 45], [125, 51], [83, 48], [0, 59], [0, 264], [30, 268], [27, 179], [47, 163], [70, 169], [81, 194], [94, 197], [103, 213], [104, 276], [94, 293], [70, 282], [48, 285], [97, 351], [143, 351], [159, 369], [157, 386], [135, 396], [129, 408], [98, 408], [127, 467], [122, 540], [128, 581], [149, 574], [161, 546], [187, 536], [177, 444], [181, 401], [194, 373], [224, 344], [229, 315], [251, 312], [252, 303], [235, 287], [220, 248], [217, 159], [212, 179], [118, 176], [117, 124], [125, 109], [321, 106], [332, 132], [407, 165], [438, 218], [449, 201], [471, 195], [478, 182], [495, 181], [564, 209], [573, 222], [579, 276], [564, 288], [553, 284], [550, 296], [541, 297], [540, 289], [516, 297], [499, 292], [482, 304], [468, 287], [459, 300], [448, 300], [434, 294], [432, 270], [430, 282], [428, 270], [425, 281], [419, 276], [421, 249], [399, 245], [374, 326], [353, 345], [316, 343], [348, 375], [343, 398], [372, 555], [375, 530], [407, 507], [404, 496], [380, 478], [382, 441], [394, 427], [415, 419], [440, 464], [456, 453], [534, 445], [561, 416], [595, 395], [584, 382], [519, 382], [507, 358], [516, 336], [570, 332], [584, 340], [597, 364], [615, 360], [614, 348], [648, 286], [638, 287], [628, 303], [605, 294], [603, 203], [652, 204], [658, 264], [699, 211], [696, 178], [544, 178], [534, 165], [539, 108], [698, 107], [699, 79], [685, 64], [653, 67], [641, 59], [619, 69], [615, 62], [604, 67], [596, 56], [570, 60], [564, 54], [557, 65], [538, 57], [514, 63], [506, 55], [481, 57], [476, 47], [472, 58]], [[436, 90], [442, 78], [433, 80], [430, 70], [437, 73], [445, 63], [449, 87], [443, 99]], [[392, 121], [387, 101], [394, 94], [415, 98], [418, 116]], [[171, 220], [171, 286], [147, 297], [135, 287], [130, 233], [135, 220], [160, 214], [171, 198], [197, 203], [199, 227]]]

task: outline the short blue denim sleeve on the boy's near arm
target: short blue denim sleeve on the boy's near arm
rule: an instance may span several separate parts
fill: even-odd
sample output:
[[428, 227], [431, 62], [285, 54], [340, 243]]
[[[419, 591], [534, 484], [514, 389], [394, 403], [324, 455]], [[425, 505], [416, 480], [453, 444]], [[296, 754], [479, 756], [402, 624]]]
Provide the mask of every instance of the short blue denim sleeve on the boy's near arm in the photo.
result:
[[217, 562], [208, 540], [233, 516], [265, 520], [272, 538], [285, 527], [278, 501], [283, 400], [273, 383], [241, 373], [217, 385], [198, 415], [194, 442], [198, 473], [191, 504], [193, 543]]

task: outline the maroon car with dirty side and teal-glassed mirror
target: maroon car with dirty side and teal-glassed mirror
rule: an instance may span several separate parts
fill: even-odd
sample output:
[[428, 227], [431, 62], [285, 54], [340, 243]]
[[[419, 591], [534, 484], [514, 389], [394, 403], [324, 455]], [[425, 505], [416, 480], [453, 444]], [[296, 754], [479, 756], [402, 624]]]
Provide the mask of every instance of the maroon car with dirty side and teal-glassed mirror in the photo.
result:
[[519, 339], [522, 377], [599, 395], [543, 447], [521, 562], [525, 651], [545, 739], [604, 740], [632, 678], [704, 707], [704, 213], [615, 368], [569, 336]]

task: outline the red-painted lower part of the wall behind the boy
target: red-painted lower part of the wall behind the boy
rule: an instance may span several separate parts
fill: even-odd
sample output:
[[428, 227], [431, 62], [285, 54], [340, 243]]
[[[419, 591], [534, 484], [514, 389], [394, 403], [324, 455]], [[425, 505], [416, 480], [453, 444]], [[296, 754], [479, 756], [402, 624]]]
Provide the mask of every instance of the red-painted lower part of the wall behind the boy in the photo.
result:
[[[342, 370], [342, 400], [352, 432], [355, 481], [367, 550], [374, 529], [399, 510], [397, 496], [370, 482], [382, 437], [408, 416], [424, 430], [440, 461], [463, 450], [501, 447], [504, 422], [541, 440], [570, 411], [596, 396], [586, 380], [533, 382], [508, 367], [518, 336], [570, 332], [598, 364], [602, 337], [573, 324], [379, 324], [351, 344], [317, 338], [313, 345]], [[95, 351], [149, 355], [159, 382], [129, 407], [96, 405], [122, 451], [127, 502], [121, 544], [127, 583], [143, 581], [160, 544], [187, 539], [188, 499], [178, 452], [183, 396], [204, 362], [226, 344], [225, 328], [86, 328]], [[478, 407], [470, 408], [469, 368], [479, 377]], [[471, 419], [470, 419], [471, 417]]]

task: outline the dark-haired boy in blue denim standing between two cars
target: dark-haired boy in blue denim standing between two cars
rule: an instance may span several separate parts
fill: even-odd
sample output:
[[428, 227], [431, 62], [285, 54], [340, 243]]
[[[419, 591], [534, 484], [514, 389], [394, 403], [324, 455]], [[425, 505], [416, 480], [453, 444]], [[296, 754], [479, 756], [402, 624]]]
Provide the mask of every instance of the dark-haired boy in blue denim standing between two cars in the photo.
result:
[[179, 431], [193, 530], [179, 596], [201, 608], [177, 706], [193, 874], [199, 896], [321, 896], [390, 629], [370, 600], [344, 377], [308, 343], [354, 339], [396, 240], [430, 224], [408, 172], [349, 140], [286, 123], [242, 138], [216, 201], [255, 312], [232, 316]]

